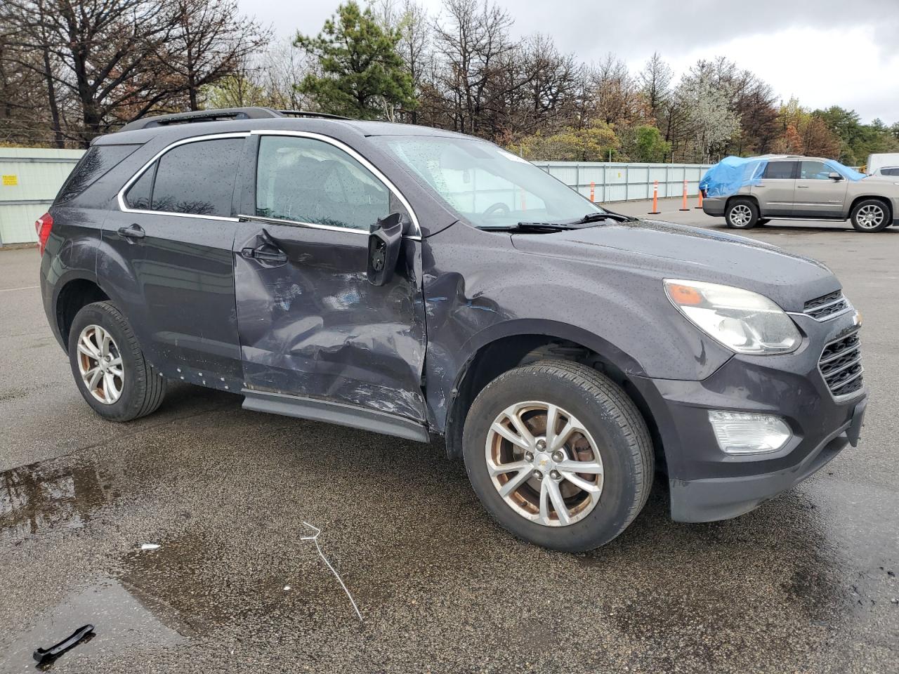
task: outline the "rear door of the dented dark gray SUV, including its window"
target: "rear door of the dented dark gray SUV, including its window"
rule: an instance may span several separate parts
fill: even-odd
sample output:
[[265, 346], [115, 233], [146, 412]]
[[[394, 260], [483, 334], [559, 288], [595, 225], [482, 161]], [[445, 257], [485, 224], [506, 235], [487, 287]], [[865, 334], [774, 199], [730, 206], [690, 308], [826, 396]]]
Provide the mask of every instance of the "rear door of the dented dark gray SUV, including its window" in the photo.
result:
[[141, 347], [168, 377], [240, 386], [232, 248], [247, 134], [167, 147], [120, 192], [98, 275], [120, 290]]

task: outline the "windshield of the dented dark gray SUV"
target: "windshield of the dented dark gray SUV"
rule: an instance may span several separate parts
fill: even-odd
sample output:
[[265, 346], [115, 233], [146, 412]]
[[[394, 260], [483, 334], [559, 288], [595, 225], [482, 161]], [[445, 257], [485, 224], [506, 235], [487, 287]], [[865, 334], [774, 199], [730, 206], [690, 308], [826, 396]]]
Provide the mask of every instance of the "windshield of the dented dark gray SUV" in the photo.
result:
[[483, 140], [378, 136], [371, 141], [476, 227], [571, 222], [605, 212], [534, 164]]

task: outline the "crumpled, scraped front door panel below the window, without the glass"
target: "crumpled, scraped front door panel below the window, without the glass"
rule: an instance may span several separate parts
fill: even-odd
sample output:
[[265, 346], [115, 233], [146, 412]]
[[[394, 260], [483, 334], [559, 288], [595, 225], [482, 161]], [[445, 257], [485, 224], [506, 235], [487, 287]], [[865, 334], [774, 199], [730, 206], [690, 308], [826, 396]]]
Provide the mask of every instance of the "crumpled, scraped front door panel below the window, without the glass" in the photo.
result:
[[[242, 254], [266, 233], [287, 262]], [[241, 224], [236, 305], [248, 388], [424, 420], [421, 244], [405, 242], [404, 268], [380, 288], [366, 278], [367, 246], [359, 231]]]

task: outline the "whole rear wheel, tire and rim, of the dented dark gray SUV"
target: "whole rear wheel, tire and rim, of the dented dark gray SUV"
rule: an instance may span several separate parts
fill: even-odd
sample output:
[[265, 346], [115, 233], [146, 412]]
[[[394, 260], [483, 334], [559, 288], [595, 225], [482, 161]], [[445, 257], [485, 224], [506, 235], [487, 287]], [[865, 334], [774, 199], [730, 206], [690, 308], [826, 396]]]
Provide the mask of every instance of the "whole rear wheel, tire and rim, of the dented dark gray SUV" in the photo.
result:
[[94, 302], [76, 314], [68, 359], [78, 390], [104, 419], [131, 421], [163, 402], [165, 377], [144, 358], [128, 320], [111, 302]]

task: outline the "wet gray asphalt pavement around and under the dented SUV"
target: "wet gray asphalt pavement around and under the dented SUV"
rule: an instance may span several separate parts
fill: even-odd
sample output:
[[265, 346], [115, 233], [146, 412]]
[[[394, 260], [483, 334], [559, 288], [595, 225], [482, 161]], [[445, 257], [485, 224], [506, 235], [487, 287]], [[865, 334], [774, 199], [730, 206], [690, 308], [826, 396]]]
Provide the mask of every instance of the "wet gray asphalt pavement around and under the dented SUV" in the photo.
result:
[[[678, 205], [659, 218], [721, 226]], [[38, 253], [0, 252], [0, 672], [86, 623], [52, 671], [899, 671], [899, 228], [749, 235], [826, 262], [864, 315], [859, 448], [724, 522], [673, 523], [657, 482], [590, 554], [495, 527], [439, 445], [183, 385], [102, 421], [50, 334]]]

